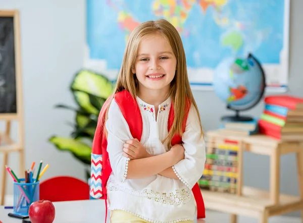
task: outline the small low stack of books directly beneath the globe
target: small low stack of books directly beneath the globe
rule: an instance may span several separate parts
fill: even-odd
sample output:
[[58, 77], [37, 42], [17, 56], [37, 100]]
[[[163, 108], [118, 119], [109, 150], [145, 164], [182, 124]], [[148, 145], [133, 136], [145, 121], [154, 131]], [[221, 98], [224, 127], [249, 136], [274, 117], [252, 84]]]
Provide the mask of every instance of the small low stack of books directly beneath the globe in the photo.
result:
[[219, 131], [224, 134], [232, 134], [238, 136], [249, 136], [258, 133], [258, 119], [243, 122], [224, 122]]

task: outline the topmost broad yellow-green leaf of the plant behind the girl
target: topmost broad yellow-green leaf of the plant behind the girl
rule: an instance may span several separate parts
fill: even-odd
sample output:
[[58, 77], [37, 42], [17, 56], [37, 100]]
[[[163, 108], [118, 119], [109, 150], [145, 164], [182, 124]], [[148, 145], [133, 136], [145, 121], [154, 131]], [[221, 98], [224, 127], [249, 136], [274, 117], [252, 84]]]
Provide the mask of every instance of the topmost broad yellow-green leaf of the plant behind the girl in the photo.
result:
[[114, 90], [113, 83], [106, 76], [89, 70], [81, 70], [76, 74], [71, 89], [101, 98], [108, 98]]

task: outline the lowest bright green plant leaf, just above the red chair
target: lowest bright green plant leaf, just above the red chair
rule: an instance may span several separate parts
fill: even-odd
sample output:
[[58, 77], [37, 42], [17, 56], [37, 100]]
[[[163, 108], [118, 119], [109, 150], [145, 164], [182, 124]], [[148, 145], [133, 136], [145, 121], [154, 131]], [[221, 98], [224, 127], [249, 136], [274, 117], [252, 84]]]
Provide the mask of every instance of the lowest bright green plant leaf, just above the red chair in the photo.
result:
[[83, 163], [90, 164], [91, 147], [84, 142], [77, 139], [58, 136], [52, 136], [48, 141], [53, 143], [59, 150], [70, 151]]

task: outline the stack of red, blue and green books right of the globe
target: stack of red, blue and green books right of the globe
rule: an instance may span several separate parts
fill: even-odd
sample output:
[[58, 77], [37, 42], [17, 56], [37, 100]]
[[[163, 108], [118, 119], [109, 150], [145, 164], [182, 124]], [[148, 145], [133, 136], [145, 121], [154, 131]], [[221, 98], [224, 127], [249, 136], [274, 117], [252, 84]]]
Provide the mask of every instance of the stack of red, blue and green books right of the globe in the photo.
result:
[[264, 98], [259, 132], [281, 140], [303, 140], [303, 98], [273, 95]]

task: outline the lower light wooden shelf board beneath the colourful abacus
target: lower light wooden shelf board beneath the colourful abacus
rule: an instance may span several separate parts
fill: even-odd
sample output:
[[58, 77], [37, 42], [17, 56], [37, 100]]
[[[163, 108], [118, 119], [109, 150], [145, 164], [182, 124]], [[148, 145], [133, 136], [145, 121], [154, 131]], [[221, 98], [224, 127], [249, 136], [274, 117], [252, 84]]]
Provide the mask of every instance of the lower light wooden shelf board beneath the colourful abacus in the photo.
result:
[[300, 197], [280, 194], [280, 203], [274, 204], [268, 191], [251, 187], [242, 187], [242, 196], [230, 193], [212, 192], [201, 189], [206, 208], [255, 217], [264, 210], [268, 215], [278, 215], [303, 209]]

